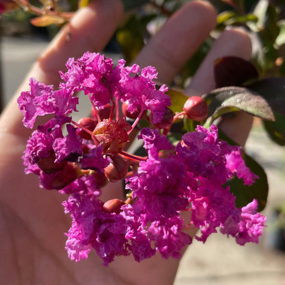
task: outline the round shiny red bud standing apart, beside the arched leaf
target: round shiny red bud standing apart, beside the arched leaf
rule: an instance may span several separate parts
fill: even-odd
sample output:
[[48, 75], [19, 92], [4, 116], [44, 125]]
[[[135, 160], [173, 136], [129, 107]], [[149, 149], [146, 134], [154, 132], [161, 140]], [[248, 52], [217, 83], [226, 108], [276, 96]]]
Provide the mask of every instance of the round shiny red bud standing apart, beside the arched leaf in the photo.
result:
[[208, 105], [206, 101], [199, 96], [188, 98], [183, 110], [186, 116], [193, 121], [203, 121], [208, 116]]

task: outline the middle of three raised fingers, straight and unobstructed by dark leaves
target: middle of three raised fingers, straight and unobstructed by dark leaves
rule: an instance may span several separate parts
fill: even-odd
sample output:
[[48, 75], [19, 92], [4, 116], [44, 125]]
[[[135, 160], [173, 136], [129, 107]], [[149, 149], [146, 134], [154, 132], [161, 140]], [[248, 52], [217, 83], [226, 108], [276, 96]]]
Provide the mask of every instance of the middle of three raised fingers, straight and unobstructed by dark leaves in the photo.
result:
[[140, 66], [155, 66], [158, 80], [169, 84], [216, 25], [216, 11], [206, 1], [191, 1], [179, 9], [136, 58]]

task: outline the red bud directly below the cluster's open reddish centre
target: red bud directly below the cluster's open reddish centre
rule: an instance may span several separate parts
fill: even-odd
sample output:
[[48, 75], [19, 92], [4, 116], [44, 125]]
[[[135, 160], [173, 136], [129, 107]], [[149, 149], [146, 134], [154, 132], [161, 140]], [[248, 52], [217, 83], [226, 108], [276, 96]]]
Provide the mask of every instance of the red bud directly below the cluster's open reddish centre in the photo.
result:
[[129, 166], [121, 156], [116, 155], [112, 157], [112, 162], [104, 171], [110, 182], [116, 182], [126, 177]]

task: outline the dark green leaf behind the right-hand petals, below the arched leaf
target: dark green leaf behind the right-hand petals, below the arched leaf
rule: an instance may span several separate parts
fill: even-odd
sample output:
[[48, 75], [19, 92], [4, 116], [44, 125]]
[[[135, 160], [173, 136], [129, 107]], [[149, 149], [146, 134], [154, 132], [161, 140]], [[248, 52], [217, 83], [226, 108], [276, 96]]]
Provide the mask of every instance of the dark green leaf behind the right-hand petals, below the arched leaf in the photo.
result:
[[230, 186], [230, 191], [236, 197], [237, 208], [247, 206], [247, 204], [251, 203], [253, 199], [257, 199], [258, 211], [261, 211], [267, 204], [267, 195], [269, 191], [267, 175], [262, 169], [262, 166], [253, 160], [253, 158], [245, 154], [244, 159], [247, 167], [249, 167], [253, 173], [258, 175], [259, 179], [256, 179], [256, 182], [251, 186], [247, 186], [243, 184], [242, 179], [234, 177], [227, 182], [227, 185]]

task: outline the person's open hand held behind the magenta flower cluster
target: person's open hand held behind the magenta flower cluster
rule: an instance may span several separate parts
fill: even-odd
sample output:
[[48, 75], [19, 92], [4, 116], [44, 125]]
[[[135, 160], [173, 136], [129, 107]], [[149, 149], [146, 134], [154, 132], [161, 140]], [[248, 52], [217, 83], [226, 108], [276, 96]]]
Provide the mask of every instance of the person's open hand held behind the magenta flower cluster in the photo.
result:
[[[45, 84], [58, 85], [59, 70], [70, 57], [84, 51], [101, 51], [119, 25], [123, 6], [119, 0], [94, 0], [77, 12], [69, 25], [51, 42], [27, 75]], [[136, 59], [140, 66], [153, 65], [160, 82], [169, 83], [216, 23], [216, 12], [204, 1], [189, 2], [160, 29]], [[102, 29], [103, 27], [103, 29]], [[71, 35], [69, 37], [69, 34]], [[80, 43], [78, 45], [78, 42]], [[239, 29], [225, 31], [186, 88], [201, 95], [213, 88], [212, 62], [221, 55], [248, 59], [251, 43]], [[1, 284], [173, 284], [179, 260], [155, 256], [143, 262], [119, 257], [103, 267], [95, 253], [76, 263], [69, 260], [64, 232], [71, 219], [64, 214], [66, 196], [38, 187], [36, 175], [25, 175], [21, 156], [31, 130], [23, 127], [16, 98], [29, 90], [25, 79], [0, 119], [0, 283]], [[245, 114], [224, 121], [223, 129], [243, 145], [251, 127]], [[234, 130], [234, 132], [232, 131]], [[238, 134], [238, 135], [237, 135]], [[104, 199], [120, 197], [116, 184], [106, 189]], [[138, 279], [143, 276], [143, 279]]]

